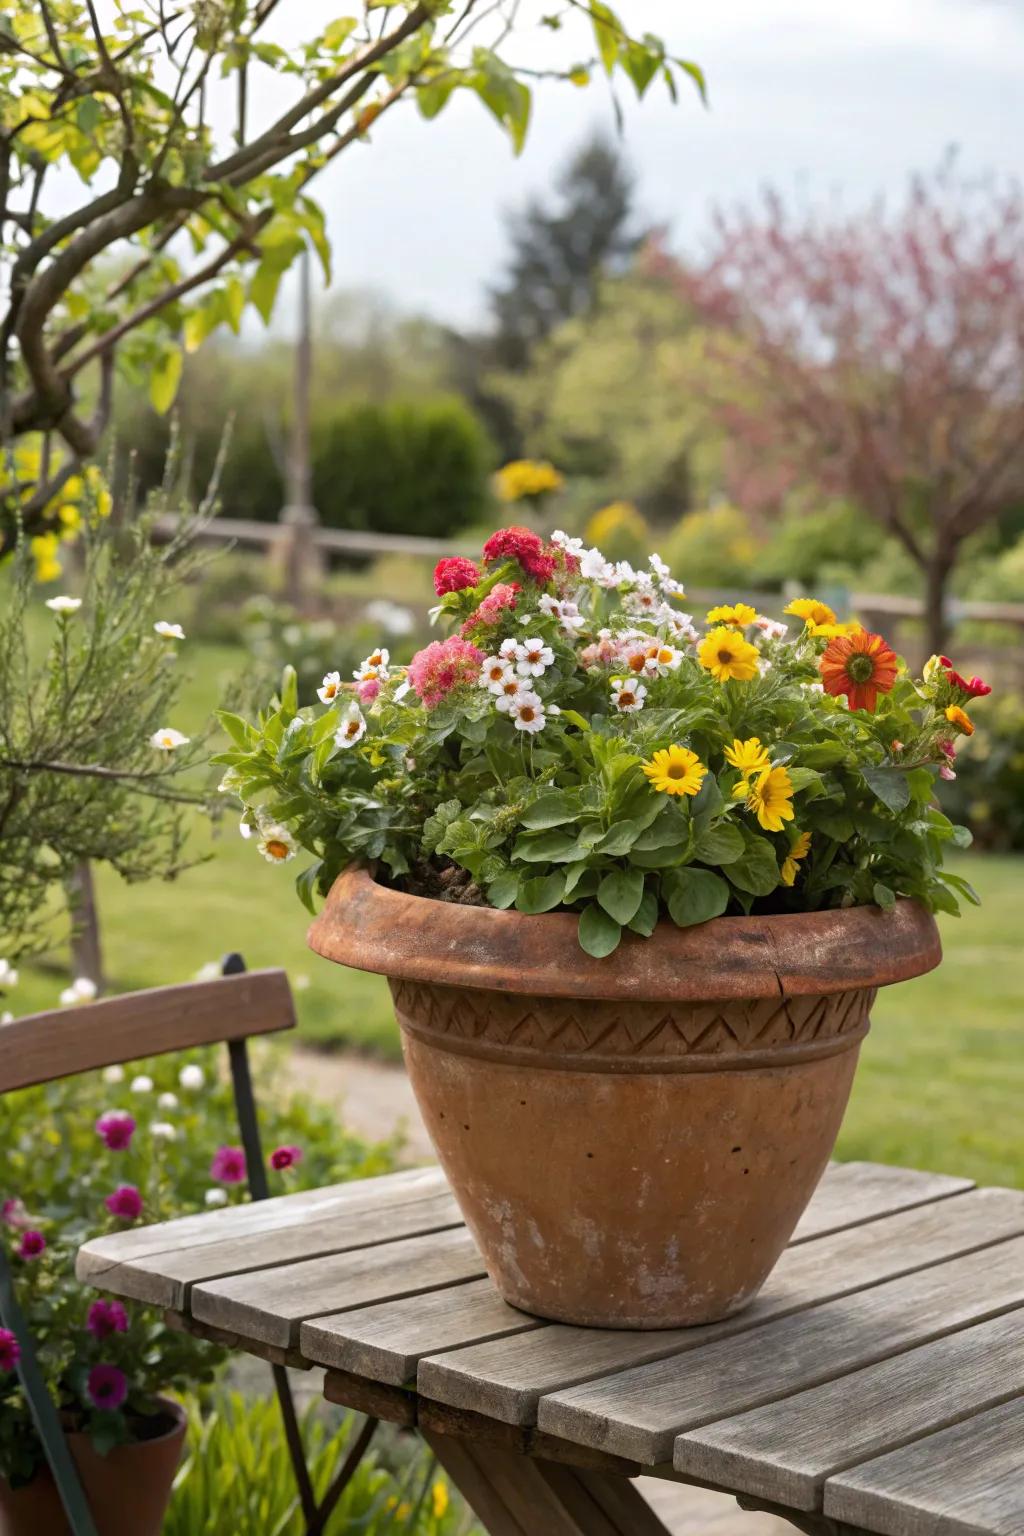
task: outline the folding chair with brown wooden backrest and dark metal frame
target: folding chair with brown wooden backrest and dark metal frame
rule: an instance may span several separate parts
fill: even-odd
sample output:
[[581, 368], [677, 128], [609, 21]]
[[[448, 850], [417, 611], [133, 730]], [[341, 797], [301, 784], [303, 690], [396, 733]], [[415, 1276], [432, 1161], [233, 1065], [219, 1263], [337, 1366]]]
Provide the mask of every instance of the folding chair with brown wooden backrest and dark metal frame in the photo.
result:
[[[223, 962], [221, 975], [212, 982], [129, 992], [98, 1003], [29, 1014], [3, 1026], [0, 1094], [138, 1057], [227, 1044], [249, 1192], [253, 1200], [266, 1200], [270, 1190], [259, 1143], [247, 1040], [293, 1028], [295, 1006], [284, 971], [246, 971], [241, 955], [232, 954]], [[46, 1390], [25, 1313], [14, 1295], [6, 1246], [2, 1243], [0, 1324], [18, 1339], [18, 1375], [74, 1536], [95, 1536], [95, 1524], [68, 1450], [57, 1405]], [[272, 1369], [302, 1514], [309, 1531], [316, 1531], [322, 1528], [325, 1513], [322, 1505], [318, 1507], [306, 1465], [289, 1376], [284, 1366]], [[332, 1490], [332, 1507], [339, 1491]]]

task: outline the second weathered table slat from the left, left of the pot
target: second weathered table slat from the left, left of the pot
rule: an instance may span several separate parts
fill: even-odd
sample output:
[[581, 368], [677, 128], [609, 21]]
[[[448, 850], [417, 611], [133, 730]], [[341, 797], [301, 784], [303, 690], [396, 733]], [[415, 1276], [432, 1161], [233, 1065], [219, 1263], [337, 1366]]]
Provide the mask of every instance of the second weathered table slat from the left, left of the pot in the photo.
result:
[[481, 1256], [465, 1227], [402, 1238], [304, 1264], [235, 1275], [192, 1287], [192, 1316], [267, 1344], [298, 1344], [306, 1318], [345, 1304], [415, 1296], [421, 1290], [479, 1279]]

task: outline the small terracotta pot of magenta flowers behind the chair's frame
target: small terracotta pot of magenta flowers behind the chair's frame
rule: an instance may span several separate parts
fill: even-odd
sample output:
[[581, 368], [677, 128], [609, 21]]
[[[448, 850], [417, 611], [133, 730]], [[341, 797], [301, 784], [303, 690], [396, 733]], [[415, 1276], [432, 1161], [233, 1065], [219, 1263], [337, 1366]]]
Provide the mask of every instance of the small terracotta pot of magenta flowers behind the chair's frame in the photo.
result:
[[[172, 1424], [154, 1439], [100, 1456], [88, 1435], [68, 1435], [98, 1536], [160, 1536], [163, 1530], [186, 1418], [169, 1398], [157, 1401]], [[0, 1478], [0, 1536], [71, 1536], [49, 1470], [14, 1491]]]

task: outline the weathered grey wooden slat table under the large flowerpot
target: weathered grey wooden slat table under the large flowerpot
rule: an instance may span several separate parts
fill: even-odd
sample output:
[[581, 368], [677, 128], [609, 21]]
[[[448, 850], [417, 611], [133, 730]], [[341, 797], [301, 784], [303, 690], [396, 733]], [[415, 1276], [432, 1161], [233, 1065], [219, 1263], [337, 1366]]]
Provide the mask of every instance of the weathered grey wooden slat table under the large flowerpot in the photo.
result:
[[671, 1332], [508, 1307], [438, 1169], [98, 1238], [78, 1273], [324, 1367], [493, 1536], [663, 1536], [642, 1471], [820, 1536], [1024, 1536], [1024, 1192], [834, 1164], [754, 1306]]

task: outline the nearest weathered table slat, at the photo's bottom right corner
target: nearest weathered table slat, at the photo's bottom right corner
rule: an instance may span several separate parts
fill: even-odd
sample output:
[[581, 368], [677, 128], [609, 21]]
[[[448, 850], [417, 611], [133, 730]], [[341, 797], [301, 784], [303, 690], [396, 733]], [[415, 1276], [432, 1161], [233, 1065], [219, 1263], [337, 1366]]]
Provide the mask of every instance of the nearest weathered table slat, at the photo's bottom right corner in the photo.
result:
[[831, 1478], [824, 1511], [884, 1536], [1021, 1536], [1024, 1398]]

